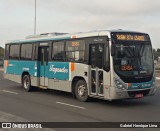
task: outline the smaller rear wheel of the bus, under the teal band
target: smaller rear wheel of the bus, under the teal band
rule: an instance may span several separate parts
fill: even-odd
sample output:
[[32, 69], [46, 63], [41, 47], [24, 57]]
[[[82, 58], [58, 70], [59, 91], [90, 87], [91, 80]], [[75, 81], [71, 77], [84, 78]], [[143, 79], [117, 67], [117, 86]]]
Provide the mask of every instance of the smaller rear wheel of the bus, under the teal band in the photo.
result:
[[31, 91], [31, 79], [29, 75], [24, 75], [22, 78], [22, 86], [26, 91]]

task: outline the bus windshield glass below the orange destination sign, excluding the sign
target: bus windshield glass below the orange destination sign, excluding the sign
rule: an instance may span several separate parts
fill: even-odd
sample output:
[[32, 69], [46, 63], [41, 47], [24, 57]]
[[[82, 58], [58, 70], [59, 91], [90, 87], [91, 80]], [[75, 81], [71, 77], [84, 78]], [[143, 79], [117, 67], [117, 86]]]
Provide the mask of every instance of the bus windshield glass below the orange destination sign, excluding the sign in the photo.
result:
[[150, 42], [115, 43], [114, 69], [120, 76], [145, 77], [153, 73]]

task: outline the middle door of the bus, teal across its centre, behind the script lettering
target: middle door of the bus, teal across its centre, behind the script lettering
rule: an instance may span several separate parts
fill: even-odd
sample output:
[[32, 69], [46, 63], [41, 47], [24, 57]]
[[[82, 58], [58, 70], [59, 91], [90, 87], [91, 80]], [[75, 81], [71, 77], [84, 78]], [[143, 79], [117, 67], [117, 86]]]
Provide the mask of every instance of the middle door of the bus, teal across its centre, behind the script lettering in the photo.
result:
[[40, 75], [40, 86], [48, 86], [48, 54], [49, 47], [39, 47], [39, 75]]

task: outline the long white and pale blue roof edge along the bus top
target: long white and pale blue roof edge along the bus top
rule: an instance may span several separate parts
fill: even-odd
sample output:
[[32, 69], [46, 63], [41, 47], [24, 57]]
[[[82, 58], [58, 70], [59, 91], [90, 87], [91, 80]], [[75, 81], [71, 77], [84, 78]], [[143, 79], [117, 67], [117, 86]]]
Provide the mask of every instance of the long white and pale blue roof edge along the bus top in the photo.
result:
[[122, 29], [96, 30], [96, 31], [89, 31], [89, 32], [78, 32], [73, 34], [54, 32], [54, 33], [31, 35], [31, 36], [27, 36], [26, 39], [7, 41], [6, 44], [45, 42], [45, 41], [52, 41], [52, 40], [65, 40], [65, 39], [84, 38], [84, 37], [93, 37], [93, 36], [106, 36], [106, 35], [110, 38], [111, 32], [142, 33], [137, 31], [122, 30]]

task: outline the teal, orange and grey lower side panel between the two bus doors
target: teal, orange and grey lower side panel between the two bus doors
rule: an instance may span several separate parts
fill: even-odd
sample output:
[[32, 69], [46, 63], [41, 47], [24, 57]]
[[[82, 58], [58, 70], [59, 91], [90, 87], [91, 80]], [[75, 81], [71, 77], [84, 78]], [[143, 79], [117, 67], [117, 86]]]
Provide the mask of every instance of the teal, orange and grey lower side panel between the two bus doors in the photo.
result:
[[[48, 88], [50, 89], [71, 92], [72, 80], [75, 77], [83, 78], [89, 87], [88, 65], [73, 62], [49, 62], [48, 70]], [[87, 72], [88, 75], [85, 76], [84, 72]]]

